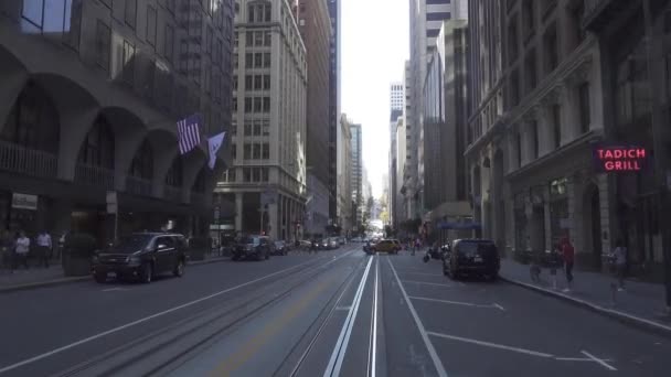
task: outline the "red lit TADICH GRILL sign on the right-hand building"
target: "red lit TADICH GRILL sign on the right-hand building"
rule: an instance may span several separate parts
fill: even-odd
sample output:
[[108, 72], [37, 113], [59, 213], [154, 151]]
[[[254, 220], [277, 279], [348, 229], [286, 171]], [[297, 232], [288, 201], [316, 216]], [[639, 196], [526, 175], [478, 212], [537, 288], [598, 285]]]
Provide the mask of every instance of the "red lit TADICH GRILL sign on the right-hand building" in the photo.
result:
[[597, 144], [592, 155], [599, 173], [637, 173], [648, 169], [650, 151], [636, 146]]

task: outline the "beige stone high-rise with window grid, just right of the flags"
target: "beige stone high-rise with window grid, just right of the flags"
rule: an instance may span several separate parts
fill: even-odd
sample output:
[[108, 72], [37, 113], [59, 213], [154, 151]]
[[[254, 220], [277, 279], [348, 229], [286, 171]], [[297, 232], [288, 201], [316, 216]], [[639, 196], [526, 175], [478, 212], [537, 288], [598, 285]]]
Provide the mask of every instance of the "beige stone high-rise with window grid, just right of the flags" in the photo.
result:
[[286, 0], [239, 1], [235, 18], [234, 166], [217, 191], [233, 197], [235, 229], [300, 236], [307, 195], [307, 58]]

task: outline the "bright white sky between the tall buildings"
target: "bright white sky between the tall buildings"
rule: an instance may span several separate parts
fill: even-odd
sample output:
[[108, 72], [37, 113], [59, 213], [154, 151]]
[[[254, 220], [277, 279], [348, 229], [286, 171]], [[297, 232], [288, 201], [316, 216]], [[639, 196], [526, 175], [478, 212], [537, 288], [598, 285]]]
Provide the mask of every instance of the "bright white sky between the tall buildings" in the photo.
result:
[[407, 0], [342, 0], [341, 111], [363, 133], [363, 164], [373, 196], [388, 170], [390, 84], [403, 78], [408, 57]]

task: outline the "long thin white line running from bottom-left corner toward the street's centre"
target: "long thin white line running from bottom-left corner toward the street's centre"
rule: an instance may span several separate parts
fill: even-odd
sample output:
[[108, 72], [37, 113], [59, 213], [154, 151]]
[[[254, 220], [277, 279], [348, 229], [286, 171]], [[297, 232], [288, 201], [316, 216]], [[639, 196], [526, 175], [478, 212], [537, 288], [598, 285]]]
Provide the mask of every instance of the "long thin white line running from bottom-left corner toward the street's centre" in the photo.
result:
[[[353, 251], [350, 251], [350, 252], [348, 252], [348, 254], [344, 254], [344, 255], [340, 256], [338, 259], [343, 258], [343, 257], [345, 257], [345, 256], [348, 256], [348, 255], [350, 255], [350, 254], [352, 254], [352, 252], [353, 252]], [[334, 260], [330, 260], [330, 261], [326, 262], [324, 265], [321, 265], [320, 267], [328, 266], [328, 265], [332, 263], [333, 261], [334, 261]], [[273, 272], [273, 273], [270, 273], [270, 274], [266, 274], [266, 276], [260, 277], [260, 278], [258, 278], [258, 279], [249, 280], [249, 281], [244, 282], [244, 283], [242, 283], [242, 284], [238, 284], [238, 286], [235, 286], [235, 287], [232, 287], [232, 288], [227, 288], [227, 289], [225, 289], [225, 290], [223, 290], [223, 291], [219, 291], [219, 292], [216, 292], [216, 293], [212, 293], [212, 294], [209, 294], [209, 295], [202, 297], [202, 298], [200, 298], [200, 299], [196, 299], [196, 300], [193, 300], [193, 301], [189, 301], [189, 302], [187, 302], [187, 303], [184, 303], [184, 304], [181, 304], [181, 305], [178, 305], [178, 306], [174, 306], [174, 308], [170, 308], [170, 309], [164, 310], [164, 311], [162, 311], [162, 312], [159, 312], [159, 313], [156, 313], [156, 314], [151, 314], [151, 315], [145, 316], [145, 317], [142, 317], [142, 319], [139, 319], [139, 320], [137, 320], [137, 321], [132, 321], [132, 322], [129, 322], [129, 323], [127, 323], [127, 324], [124, 324], [124, 325], [120, 325], [120, 326], [117, 326], [117, 327], [114, 327], [114, 328], [107, 330], [107, 331], [105, 331], [105, 332], [102, 332], [102, 333], [98, 333], [98, 334], [95, 334], [95, 335], [92, 335], [92, 336], [85, 337], [85, 338], [83, 338], [83, 340], [79, 340], [79, 341], [77, 341], [77, 342], [74, 342], [74, 343], [71, 343], [71, 344], [64, 345], [64, 346], [62, 346], [62, 347], [58, 347], [58, 348], [52, 349], [52, 351], [46, 352], [46, 353], [43, 353], [43, 354], [41, 354], [41, 355], [38, 355], [38, 356], [33, 356], [33, 357], [30, 357], [30, 358], [23, 359], [23, 360], [21, 360], [21, 362], [14, 363], [14, 364], [12, 364], [12, 365], [8, 365], [8, 366], [6, 366], [6, 367], [0, 368], [0, 374], [3, 374], [3, 373], [6, 373], [6, 371], [12, 370], [12, 369], [17, 369], [17, 368], [19, 368], [19, 367], [22, 367], [22, 366], [24, 366], [24, 365], [28, 365], [28, 364], [31, 364], [31, 363], [34, 363], [34, 362], [39, 362], [39, 360], [41, 360], [41, 359], [43, 359], [43, 358], [46, 358], [46, 357], [50, 357], [50, 356], [52, 356], [52, 355], [55, 355], [55, 354], [62, 353], [62, 352], [67, 351], [67, 349], [70, 349], [70, 348], [74, 348], [74, 347], [79, 346], [79, 345], [82, 345], [82, 344], [85, 344], [85, 343], [88, 343], [88, 342], [92, 342], [92, 341], [98, 340], [98, 338], [104, 337], [104, 336], [107, 336], [107, 335], [109, 335], [109, 334], [118, 333], [119, 331], [126, 330], [126, 328], [128, 328], [128, 327], [132, 327], [132, 326], [135, 326], [135, 325], [138, 325], [138, 324], [140, 324], [140, 323], [145, 323], [145, 322], [147, 322], [147, 321], [151, 321], [151, 320], [157, 319], [157, 317], [159, 317], [159, 316], [163, 316], [163, 315], [166, 315], [166, 314], [170, 314], [170, 313], [175, 312], [175, 311], [178, 311], [178, 310], [180, 310], [180, 309], [184, 309], [184, 308], [192, 306], [192, 305], [194, 305], [194, 304], [196, 304], [196, 303], [200, 303], [200, 302], [203, 302], [203, 301], [206, 301], [206, 300], [210, 300], [210, 299], [216, 298], [216, 297], [219, 297], [219, 295], [222, 295], [222, 294], [228, 293], [228, 292], [234, 291], [234, 290], [236, 290], [236, 289], [241, 289], [241, 288], [243, 288], [243, 287], [251, 286], [251, 284], [253, 284], [253, 283], [256, 283], [256, 282], [263, 281], [263, 280], [265, 280], [265, 279], [268, 279], [268, 278], [270, 278], [270, 277], [274, 277], [274, 276], [276, 276], [276, 274], [278, 274], [278, 273], [283, 273], [283, 272], [286, 272], [286, 271], [294, 270], [294, 269], [296, 269], [296, 268], [299, 268], [299, 267], [305, 266], [305, 265], [310, 263], [310, 262], [312, 262], [312, 260], [308, 260], [308, 261], [302, 262], [302, 263], [300, 263], [300, 265], [296, 265], [296, 266], [294, 266], [294, 267], [289, 267], [289, 268], [287, 268], [287, 269], [279, 270], [279, 271]]]

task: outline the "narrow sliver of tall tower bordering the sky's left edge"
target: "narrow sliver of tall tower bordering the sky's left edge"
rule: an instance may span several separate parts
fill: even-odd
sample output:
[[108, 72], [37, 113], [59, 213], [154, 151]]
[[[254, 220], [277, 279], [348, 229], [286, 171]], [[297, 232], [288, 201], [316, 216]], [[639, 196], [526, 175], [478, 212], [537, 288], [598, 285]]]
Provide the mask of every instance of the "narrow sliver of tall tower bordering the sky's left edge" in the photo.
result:
[[338, 212], [338, 129], [340, 128], [340, 32], [342, 0], [328, 0], [331, 18], [331, 49], [329, 76], [329, 216], [334, 220]]

